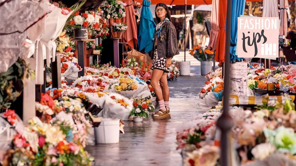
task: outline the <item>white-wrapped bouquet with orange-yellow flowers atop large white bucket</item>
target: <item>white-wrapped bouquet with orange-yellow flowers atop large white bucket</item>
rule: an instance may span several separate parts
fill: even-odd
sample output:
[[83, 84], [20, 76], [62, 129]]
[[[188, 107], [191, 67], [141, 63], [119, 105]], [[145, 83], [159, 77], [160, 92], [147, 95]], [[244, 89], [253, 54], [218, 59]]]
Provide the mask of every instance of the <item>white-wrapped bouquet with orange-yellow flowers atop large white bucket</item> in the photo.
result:
[[133, 109], [133, 104], [128, 98], [117, 93], [111, 93], [106, 97], [103, 118], [123, 119]]

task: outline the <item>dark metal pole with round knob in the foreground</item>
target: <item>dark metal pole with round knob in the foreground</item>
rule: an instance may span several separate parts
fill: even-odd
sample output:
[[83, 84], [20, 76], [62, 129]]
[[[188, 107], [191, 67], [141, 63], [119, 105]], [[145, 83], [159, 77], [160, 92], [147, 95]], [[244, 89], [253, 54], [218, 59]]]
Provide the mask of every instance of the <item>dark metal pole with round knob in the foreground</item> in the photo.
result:
[[229, 131], [231, 130], [233, 121], [229, 115], [229, 77], [230, 77], [230, 33], [231, 33], [231, 10], [232, 0], [227, 0], [227, 17], [226, 17], [226, 45], [225, 45], [225, 67], [224, 67], [224, 91], [223, 91], [223, 114], [217, 121], [217, 126], [221, 130], [221, 154], [220, 164], [221, 166], [231, 165], [231, 148]]

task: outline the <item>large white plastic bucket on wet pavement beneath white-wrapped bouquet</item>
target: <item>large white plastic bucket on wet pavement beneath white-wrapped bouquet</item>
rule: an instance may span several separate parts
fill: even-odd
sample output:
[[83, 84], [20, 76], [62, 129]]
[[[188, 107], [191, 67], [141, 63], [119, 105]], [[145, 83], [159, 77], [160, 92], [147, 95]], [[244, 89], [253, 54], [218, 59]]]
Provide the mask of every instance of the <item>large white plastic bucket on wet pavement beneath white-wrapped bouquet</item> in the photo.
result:
[[119, 142], [119, 119], [102, 119], [99, 127], [94, 128], [96, 144], [117, 144]]

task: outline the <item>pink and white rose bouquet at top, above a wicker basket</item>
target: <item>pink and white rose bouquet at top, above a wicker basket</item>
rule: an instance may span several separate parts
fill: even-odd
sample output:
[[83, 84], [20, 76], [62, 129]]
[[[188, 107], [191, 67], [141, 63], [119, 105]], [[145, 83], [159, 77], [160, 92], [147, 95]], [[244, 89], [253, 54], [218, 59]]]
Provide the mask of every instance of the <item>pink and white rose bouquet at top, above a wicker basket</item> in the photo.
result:
[[120, 0], [107, 0], [101, 4], [99, 11], [105, 19], [118, 19], [126, 17], [125, 6], [126, 3]]

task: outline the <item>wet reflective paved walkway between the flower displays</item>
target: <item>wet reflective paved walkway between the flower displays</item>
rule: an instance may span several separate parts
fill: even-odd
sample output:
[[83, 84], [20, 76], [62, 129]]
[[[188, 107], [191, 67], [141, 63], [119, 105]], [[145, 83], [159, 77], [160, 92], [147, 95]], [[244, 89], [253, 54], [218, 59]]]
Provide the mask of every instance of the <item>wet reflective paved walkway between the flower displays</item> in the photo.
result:
[[198, 115], [202, 109], [198, 97], [204, 82], [200, 66], [191, 67], [192, 76], [180, 76], [168, 82], [170, 88], [171, 119], [144, 119], [142, 123], [124, 121], [125, 134], [119, 144], [88, 146], [95, 165], [182, 165], [176, 151], [176, 129], [184, 121]]

